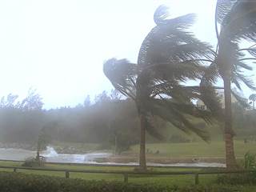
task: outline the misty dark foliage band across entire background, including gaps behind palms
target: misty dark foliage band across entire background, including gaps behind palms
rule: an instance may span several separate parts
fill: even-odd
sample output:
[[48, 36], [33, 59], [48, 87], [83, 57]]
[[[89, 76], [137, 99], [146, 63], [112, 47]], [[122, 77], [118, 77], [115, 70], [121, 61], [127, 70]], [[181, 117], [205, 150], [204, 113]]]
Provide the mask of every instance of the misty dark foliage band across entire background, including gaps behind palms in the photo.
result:
[[[233, 125], [238, 137], [252, 142], [256, 135], [255, 110], [244, 110], [236, 103], [232, 107]], [[27, 143], [32, 150], [36, 150], [38, 133], [42, 127], [45, 127], [46, 133], [53, 141], [98, 143], [110, 149], [114, 146], [114, 137], [117, 134], [118, 139], [123, 141], [123, 143], [119, 142], [122, 145], [121, 148], [126, 146], [124, 150], [129, 148], [130, 144], [138, 144], [137, 114], [136, 106], [131, 99], [110, 99], [110, 101], [98, 102], [90, 106], [63, 107], [54, 110], [25, 111], [3, 107], [0, 109], [0, 137], [2, 142]], [[197, 118], [190, 119], [202, 130], [211, 128], [204, 123], [198, 124]], [[184, 140], [182, 132], [175, 130], [156, 116], [154, 126], [159, 128], [160, 134], [166, 136], [167, 141], [173, 134]], [[221, 130], [218, 130], [217, 126], [210, 131], [213, 138], [220, 138]], [[174, 140], [177, 139], [174, 138]], [[147, 141], [158, 142], [152, 137], [147, 137]]]

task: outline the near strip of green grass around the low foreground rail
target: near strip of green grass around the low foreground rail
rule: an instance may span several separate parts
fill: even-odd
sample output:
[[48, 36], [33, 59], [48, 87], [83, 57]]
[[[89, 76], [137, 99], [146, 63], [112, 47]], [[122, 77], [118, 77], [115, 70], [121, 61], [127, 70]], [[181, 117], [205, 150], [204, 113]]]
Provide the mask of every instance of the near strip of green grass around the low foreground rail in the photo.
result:
[[[0, 166], [21, 166], [22, 162], [1, 161]], [[63, 165], [46, 164], [46, 168], [66, 169], [66, 170], [134, 170], [133, 167], [123, 166], [83, 166], [83, 165]], [[198, 171], [198, 168], [154, 168], [153, 171]], [[0, 169], [0, 171], [13, 171], [11, 169]], [[48, 176], [65, 177], [64, 172], [41, 171], [41, 170], [18, 170], [24, 174], [40, 174]], [[70, 173], [70, 178], [82, 178], [86, 180], [123, 181], [122, 174], [83, 174]], [[200, 185], [212, 185], [215, 183], [217, 175], [199, 175]], [[129, 182], [138, 184], [156, 184], [164, 186], [190, 186], [194, 184], [194, 175], [129, 175]], [[256, 186], [242, 186], [242, 192], [256, 191]]]

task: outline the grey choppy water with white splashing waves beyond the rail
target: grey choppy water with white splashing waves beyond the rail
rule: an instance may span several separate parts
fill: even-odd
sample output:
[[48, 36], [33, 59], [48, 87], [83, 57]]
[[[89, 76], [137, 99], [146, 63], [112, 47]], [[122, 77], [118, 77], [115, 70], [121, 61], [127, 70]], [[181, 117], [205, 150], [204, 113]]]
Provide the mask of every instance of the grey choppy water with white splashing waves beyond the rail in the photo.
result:
[[[87, 153], [87, 154], [58, 154], [53, 147], [47, 146], [47, 149], [42, 151], [42, 156], [46, 158], [46, 162], [69, 162], [69, 163], [90, 163], [102, 165], [130, 165], [136, 166], [138, 163], [115, 163], [115, 162], [95, 162], [97, 158], [108, 158], [110, 153]], [[13, 148], [0, 148], [0, 160], [14, 160], [24, 161], [26, 158], [36, 156], [36, 151], [22, 150]], [[225, 164], [217, 162], [194, 162], [194, 163], [174, 163], [174, 164], [160, 164], [147, 163], [149, 166], [194, 166], [194, 167], [225, 167]]]

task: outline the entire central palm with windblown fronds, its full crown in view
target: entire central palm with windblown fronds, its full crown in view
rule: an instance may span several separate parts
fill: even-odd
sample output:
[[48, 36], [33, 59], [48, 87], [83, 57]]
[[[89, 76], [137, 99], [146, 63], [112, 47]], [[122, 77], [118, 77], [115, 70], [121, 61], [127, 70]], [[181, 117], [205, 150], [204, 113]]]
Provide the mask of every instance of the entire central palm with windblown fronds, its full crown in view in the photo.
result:
[[194, 106], [193, 99], [204, 98], [199, 86], [186, 86], [186, 82], [201, 78], [202, 62], [210, 59], [210, 47], [187, 31], [194, 22], [194, 14], [172, 19], [167, 16], [165, 6], [155, 11], [156, 26], [142, 42], [138, 64], [112, 58], [103, 67], [113, 86], [136, 103], [141, 122], [142, 170], [146, 170], [146, 130], [158, 138], [162, 136], [154, 127], [154, 115], [186, 133], [209, 139], [206, 131], [190, 122], [191, 116], [210, 122], [210, 113]]

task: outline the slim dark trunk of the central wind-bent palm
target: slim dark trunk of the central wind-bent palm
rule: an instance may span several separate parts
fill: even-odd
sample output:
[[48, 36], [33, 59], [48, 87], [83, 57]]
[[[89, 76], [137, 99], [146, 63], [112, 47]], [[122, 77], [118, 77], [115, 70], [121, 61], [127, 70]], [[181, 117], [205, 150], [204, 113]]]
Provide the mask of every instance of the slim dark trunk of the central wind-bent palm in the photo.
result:
[[146, 118], [144, 114], [140, 114], [141, 120], [141, 140], [139, 154], [139, 169], [146, 170]]

